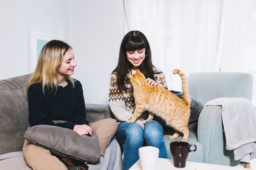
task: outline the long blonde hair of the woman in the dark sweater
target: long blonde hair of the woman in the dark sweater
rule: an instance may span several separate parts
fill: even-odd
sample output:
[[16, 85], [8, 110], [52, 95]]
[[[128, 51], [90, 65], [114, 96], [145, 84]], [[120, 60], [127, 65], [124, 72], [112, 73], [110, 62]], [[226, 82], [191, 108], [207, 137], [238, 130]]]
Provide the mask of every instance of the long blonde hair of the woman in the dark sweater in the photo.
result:
[[[44, 95], [45, 92], [54, 92], [55, 94], [58, 90], [58, 67], [69, 49], [72, 49], [72, 47], [60, 40], [47, 42], [40, 52], [36, 69], [27, 84], [27, 91], [31, 84], [40, 83]], [[74, 80], [70, 75], [67, 75], [66, 79], [72, 83], [74, 88]]]

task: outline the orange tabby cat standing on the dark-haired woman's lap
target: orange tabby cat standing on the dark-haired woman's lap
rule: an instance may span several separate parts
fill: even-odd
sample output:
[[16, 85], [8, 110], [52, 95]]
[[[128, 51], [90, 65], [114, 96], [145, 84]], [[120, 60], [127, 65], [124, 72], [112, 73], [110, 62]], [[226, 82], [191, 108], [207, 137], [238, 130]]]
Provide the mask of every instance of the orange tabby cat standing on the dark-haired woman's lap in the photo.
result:
[[184, 135], [182, 141], [186, 142], [189, 138], [188, 122], [191, 99], [185, 74], [178, 69], [173, 70], [173, 74], [179, 74], [182, 79], [183, 100], [166, 88], [148, 84], [144, 74], [139, 70], [136, 70], [134, 75], [128, 74], [134, 88], [136, 108], [132, 118], [127, 122], [135, 122], [144, 110], [148, 110], [149, 115], [146, 121], [152, 120], [153, 114], [161, 117], [167, 126], [175, 129], [175, 133], [169, 139], [176, 139], [182, 132]]

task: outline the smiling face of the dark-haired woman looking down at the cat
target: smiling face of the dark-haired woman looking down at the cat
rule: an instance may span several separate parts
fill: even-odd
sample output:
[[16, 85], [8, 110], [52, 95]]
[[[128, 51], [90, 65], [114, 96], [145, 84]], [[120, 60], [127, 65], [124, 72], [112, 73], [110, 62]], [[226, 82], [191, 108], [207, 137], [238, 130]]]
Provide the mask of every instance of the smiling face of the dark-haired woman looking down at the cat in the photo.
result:
[[139, 69], [139, 66], [144, 61], [146, 49], [139, 49], [135, 51], [126, 51], [127, 59], [132, 64], [132, 69]]

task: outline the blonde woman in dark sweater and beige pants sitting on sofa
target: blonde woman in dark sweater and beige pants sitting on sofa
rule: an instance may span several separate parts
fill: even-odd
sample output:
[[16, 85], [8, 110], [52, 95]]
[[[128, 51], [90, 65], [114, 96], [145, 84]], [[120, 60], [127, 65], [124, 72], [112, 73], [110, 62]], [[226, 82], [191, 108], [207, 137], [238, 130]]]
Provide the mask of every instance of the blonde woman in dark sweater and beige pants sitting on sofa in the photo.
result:
[[[69, 128], [79, 135], [99, 138], [100, 153], [104, 156], [110, 140], [117, 130], [114, 119], [103, 119], [89, 124], [85, 119], [85, 103], [82, 85], [70, 76], [76, 67], [71, 46], [60, 40], [52, 40], [43, 46], [38, 64], [27, 85], [30, 126], [46, 124]], [[65, 123], [54, 124], [53, 120]], [[49, 150], [30, 144], [25, 140], [23, 153], [27, 164], [33, 170], [85, 170], [82, 166], [68, 166]], [[103, 159], [103, 158], [101, 158]]]

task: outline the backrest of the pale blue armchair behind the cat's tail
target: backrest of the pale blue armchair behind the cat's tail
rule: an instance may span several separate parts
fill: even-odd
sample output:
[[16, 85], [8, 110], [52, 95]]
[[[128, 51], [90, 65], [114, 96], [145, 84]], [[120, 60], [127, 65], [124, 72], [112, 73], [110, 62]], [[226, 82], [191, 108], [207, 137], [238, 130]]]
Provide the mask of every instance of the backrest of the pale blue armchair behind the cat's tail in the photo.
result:
[[219, 97], [244, 97], [252, 101], [253, 77], [242, 72], [195, 72], [187, 76], [189, 94], [203, 105]]

